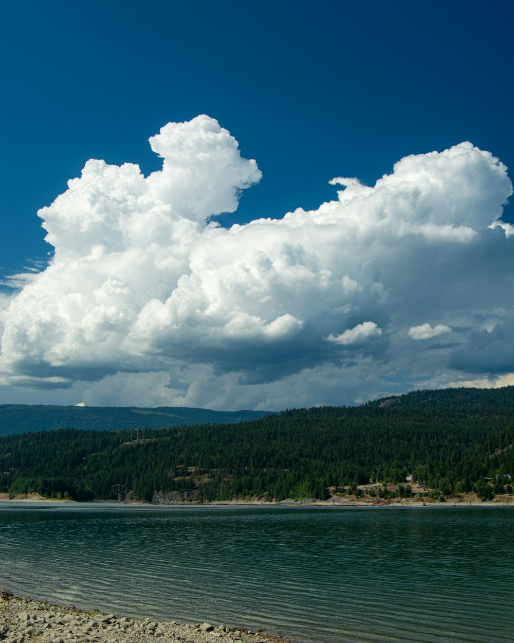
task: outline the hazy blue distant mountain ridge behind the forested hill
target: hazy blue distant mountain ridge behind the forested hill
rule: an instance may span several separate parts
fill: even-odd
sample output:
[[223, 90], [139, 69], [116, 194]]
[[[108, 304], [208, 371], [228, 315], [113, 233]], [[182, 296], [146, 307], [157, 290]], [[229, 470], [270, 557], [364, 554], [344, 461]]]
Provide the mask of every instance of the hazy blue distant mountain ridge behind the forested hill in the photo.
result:
[[231, 424], [260, 419], [268, 411], [213, 411], [188, 406], [51, 406], [48, 404], [0, 404], [0, 437], [18, 433], [77, 430], [109, 430], [176, 426], [177, 424]]

